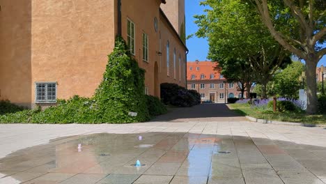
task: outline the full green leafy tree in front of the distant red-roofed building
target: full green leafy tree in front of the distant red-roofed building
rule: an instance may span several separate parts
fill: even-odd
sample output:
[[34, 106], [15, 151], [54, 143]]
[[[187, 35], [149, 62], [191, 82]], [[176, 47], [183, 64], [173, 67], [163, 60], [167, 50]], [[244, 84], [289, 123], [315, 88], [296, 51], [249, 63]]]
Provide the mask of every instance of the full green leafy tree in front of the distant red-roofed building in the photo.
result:
[[[241, 61], [251, 67], [252, 78], [263, 85], [263, 98], [267, 97], [266, 85], [279, 67], [290, 63], [288, 52], [270, 36], [256, 9], [241, 0], [205, 0], [207, 15], [196, 15], [199, 31], [196, 36], [208, 38], [208, 58], [226, 64]], [[233, 72], [229, 66], [227, 70]], [[225, 71], [224, 71], [225, 72]], [[242, 72], [247, 72], [242, 70]]]

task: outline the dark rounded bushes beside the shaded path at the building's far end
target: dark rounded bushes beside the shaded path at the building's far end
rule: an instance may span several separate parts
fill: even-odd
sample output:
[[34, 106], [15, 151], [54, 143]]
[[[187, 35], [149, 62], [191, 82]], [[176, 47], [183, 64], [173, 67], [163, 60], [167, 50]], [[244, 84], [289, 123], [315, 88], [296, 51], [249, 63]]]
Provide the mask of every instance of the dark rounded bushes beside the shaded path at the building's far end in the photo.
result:
[[200, 103], [199, 97], [196, 91], [188, 91], [178, 84], [161, 84], [161, 99], [166, 105], [192, 107]]

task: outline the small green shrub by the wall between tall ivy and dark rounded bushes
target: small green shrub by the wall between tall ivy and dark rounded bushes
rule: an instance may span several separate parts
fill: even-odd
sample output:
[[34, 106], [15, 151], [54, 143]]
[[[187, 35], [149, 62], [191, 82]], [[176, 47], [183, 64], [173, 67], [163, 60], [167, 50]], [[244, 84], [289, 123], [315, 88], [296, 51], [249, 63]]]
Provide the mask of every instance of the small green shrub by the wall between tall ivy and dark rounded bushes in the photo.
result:
[[152, 95], [146, 95], [146, 103], [150, 116], [159, 116], [167, 112], [167, 109], [161, 102], [160, 98]]

